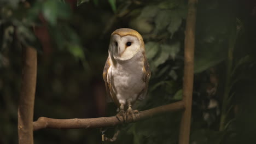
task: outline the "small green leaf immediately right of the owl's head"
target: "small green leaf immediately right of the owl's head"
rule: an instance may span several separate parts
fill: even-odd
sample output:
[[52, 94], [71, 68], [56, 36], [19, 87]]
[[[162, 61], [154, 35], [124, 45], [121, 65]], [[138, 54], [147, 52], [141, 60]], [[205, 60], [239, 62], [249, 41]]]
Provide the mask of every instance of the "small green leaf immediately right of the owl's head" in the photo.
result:
[[156, 54], [159, 52], [160, 47], [158, 43], [155, 43], [153, 41], [149, 41], [145, 44], [146, 49], [146, 56], [148, 59], [153, 59]]

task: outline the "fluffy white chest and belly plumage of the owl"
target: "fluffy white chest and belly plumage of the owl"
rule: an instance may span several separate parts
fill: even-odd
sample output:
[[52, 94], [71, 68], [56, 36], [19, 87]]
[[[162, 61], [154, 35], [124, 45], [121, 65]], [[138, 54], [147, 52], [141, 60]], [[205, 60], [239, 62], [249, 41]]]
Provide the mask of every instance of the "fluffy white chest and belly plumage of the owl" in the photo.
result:
[[146, 87], [142, 79], [143, 66], [142, 53], [137, 53], [127, 61], [117, 61], [115, 67], [111, 66], [111, 83], [119, 103], [135, 101], [138, 94]]

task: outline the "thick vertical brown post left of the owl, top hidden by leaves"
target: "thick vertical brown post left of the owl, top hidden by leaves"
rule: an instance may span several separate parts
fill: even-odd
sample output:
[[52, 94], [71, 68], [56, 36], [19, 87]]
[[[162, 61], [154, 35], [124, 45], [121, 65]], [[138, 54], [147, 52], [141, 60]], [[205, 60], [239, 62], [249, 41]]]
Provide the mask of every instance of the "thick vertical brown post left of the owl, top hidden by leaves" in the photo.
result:
[[22, 80], [18, 107], [19, 144], [33, 143], [34, 94], [37, 80], [37, 51], [33, 47], [22, 50]]

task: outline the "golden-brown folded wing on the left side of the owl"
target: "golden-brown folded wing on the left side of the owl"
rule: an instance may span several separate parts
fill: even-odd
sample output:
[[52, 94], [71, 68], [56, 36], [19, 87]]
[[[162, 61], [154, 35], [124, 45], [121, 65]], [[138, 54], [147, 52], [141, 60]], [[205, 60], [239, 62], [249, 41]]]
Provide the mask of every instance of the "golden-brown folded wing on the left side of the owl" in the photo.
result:
[[105, 82], [105, 86], [106, 86], [106, 91], [107, 91], [107, 102], [111, 102], [111, 101], [114, 101], [114, 103], [119, 107], [119, 101], [116, 97], [116, 95], [114, 94], [113, 92], [113, 87], [112, 87], [112, 84], [110, 82], [110, 62], [109, 62], [109, 57], [107, 58], [107, 61], [106, 61], [106, 64], [105, 64], [105, 67], [103, 69], [103, 80]]

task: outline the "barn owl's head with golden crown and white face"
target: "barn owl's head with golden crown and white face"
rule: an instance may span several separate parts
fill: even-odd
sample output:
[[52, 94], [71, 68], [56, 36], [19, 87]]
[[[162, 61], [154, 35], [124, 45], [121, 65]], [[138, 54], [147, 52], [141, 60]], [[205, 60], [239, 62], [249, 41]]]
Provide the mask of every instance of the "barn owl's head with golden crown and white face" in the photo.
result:
[[115, 59], [126, 61], [135, 56], [137, 52], [144, 51], [144, 41], [137, 31], [120, 28], [111, 34], [109, 53]]

